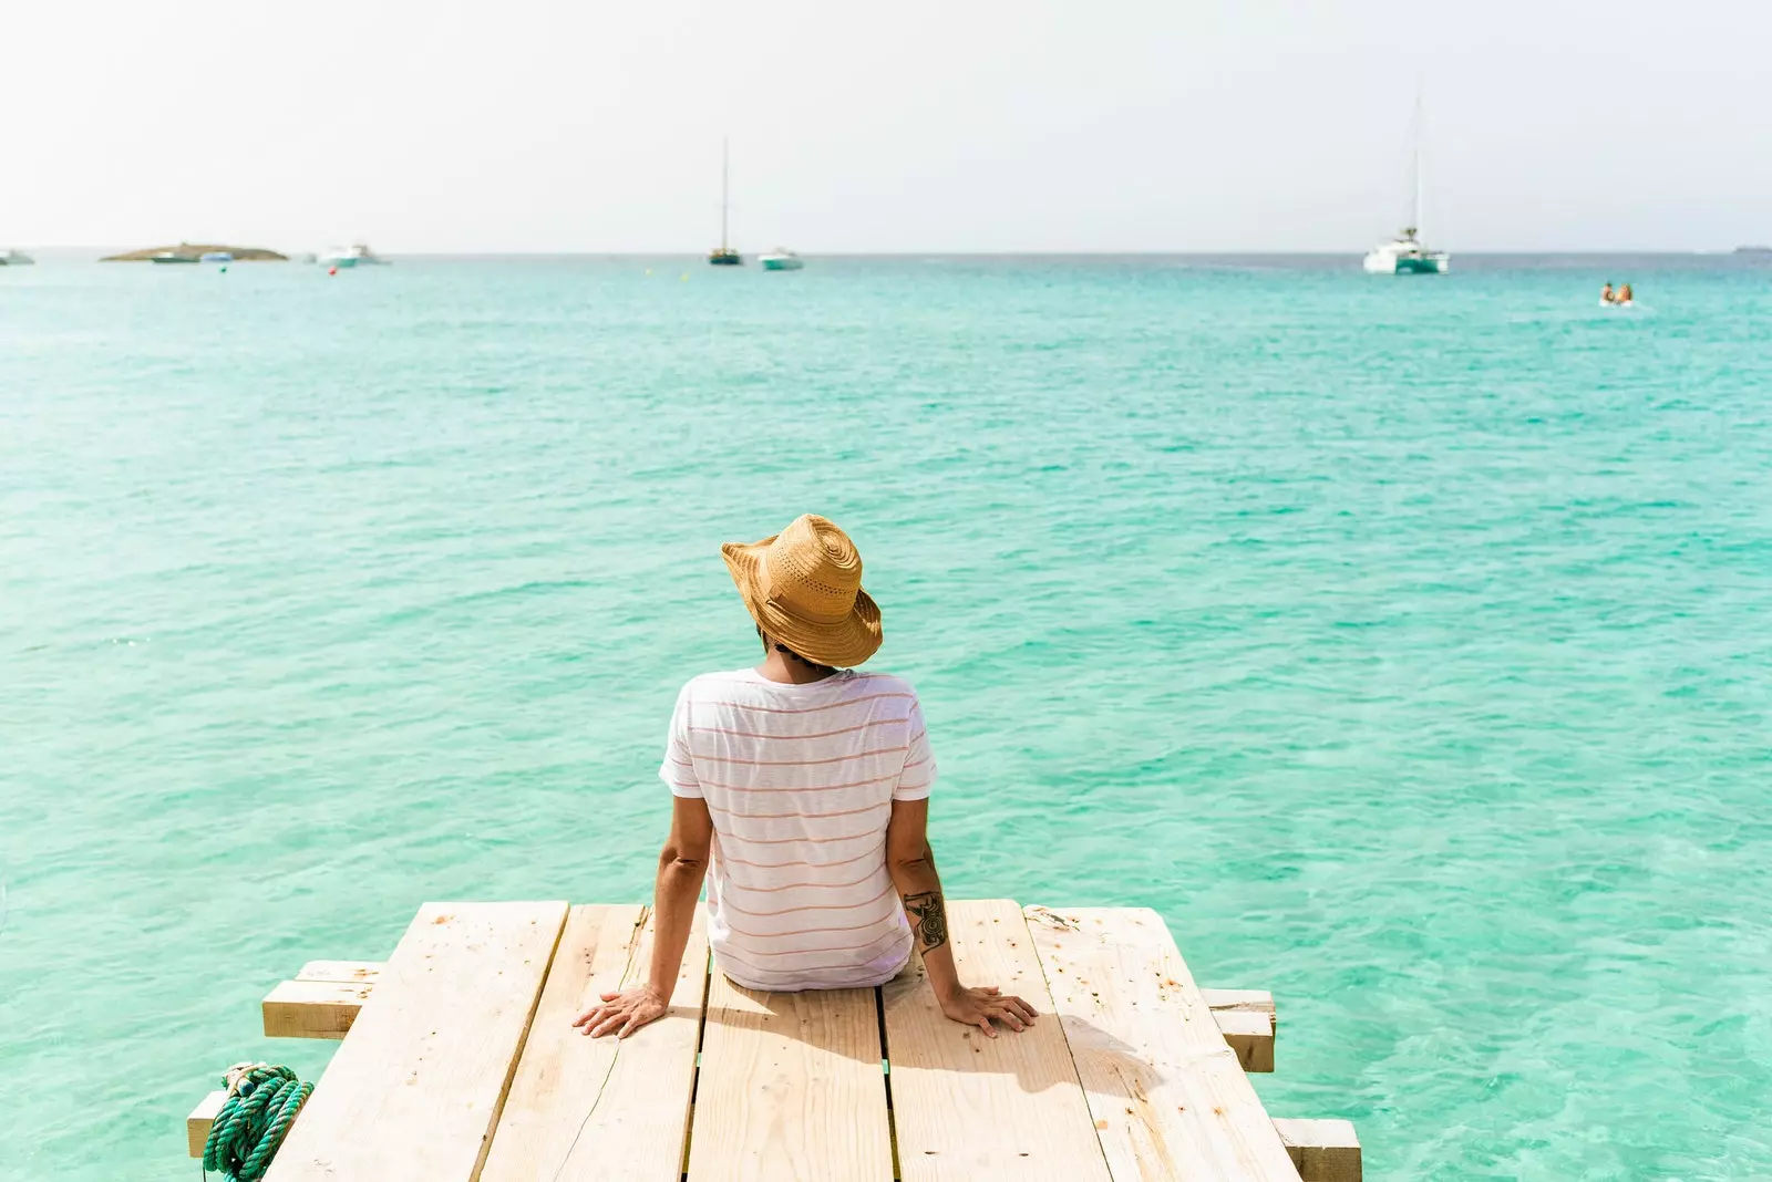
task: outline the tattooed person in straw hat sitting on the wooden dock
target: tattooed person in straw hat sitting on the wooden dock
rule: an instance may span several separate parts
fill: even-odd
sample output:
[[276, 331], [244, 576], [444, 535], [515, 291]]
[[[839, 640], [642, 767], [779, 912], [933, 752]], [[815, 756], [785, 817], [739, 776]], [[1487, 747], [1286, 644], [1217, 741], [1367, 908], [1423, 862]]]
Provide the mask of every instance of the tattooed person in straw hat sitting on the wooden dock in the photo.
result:
[[806, 515], [721, 554], [764, 660], [677, 695], [647, 984], [604, 993], [572, 1025], [626, 1039], [668, 1010], [705, 878], [714, 971], [737, 986], [867, 989], [914, 948], [943, 1014], [991, 1037], [1026, 1028], [1031, 1005], [955, 970], [925, 828], [936, 757], [916, 692], [854, 669], [881, 646], [854, 543]]

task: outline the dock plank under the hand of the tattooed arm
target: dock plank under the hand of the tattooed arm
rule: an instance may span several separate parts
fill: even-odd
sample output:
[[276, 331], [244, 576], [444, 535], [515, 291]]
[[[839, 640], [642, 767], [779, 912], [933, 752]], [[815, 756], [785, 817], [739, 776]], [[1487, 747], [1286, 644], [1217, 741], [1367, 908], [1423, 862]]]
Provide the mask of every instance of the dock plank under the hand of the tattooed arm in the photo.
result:
[[948, 938], [962, 982], [1021, 994], [1045, 1017], [987, 1039], [943, 1017], [921, 963], [881, 989], [904, 1182], [1108, 1182], [1021, 908], [950, 901]]

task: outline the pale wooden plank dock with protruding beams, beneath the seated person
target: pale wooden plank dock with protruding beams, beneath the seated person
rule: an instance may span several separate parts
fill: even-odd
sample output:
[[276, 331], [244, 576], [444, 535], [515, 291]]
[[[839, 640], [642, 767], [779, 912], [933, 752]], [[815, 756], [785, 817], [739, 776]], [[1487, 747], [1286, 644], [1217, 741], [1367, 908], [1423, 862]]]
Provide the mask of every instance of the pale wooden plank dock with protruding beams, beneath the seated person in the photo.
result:
[[[571, 1026], [645, 977], [641, 906], [425, 904], [386, 963], [312, 961], [268, 1035], [344, 1039], [266, 1182], [1359, 1182], [1345, 1120], [1274, 1120], [1260, 991], [1203, 991], [1141, 908], [948, 904], [960, 977], [1045, 1016], [985, 1039], [921, 968], [755, 993], [700, 918], [670, 1012]], [[202, 1154], [222, 1092], [188, 1120]]]

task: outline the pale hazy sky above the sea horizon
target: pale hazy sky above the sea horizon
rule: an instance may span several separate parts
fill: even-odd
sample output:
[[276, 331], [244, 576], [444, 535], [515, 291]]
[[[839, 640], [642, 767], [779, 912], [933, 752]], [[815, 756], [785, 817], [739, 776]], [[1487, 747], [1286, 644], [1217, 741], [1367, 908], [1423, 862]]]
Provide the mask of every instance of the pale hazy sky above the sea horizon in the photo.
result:
[[1772, 239], [1772, 5], [9, 0], [0, 248]]

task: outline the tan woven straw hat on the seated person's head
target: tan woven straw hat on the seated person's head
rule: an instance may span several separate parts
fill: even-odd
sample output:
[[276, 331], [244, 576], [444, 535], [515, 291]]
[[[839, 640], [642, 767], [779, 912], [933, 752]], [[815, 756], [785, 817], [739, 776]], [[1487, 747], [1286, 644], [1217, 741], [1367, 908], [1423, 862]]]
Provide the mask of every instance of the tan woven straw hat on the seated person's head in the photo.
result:
[[861, 589], [861, 556], [842, 529], [806, 513], [774, 538], [719, 547], [751, 619], [820, 665], [859, 665], [881, 646], [881, 609]]

